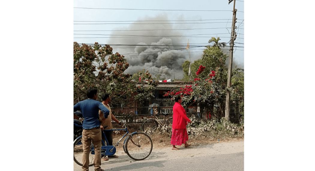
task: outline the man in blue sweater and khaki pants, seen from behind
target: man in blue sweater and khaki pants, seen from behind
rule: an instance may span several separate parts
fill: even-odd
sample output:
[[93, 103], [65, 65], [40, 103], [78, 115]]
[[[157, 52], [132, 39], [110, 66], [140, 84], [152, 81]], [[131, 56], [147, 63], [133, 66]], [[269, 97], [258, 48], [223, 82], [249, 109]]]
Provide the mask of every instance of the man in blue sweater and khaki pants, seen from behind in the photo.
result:
[[102, 147], [101, 140], [102, 134], [99, 121], [99, 110], [104, 113], [104, 117], [107, 118], [109, 110], [97, 99], [97, 90], [95, 88], [89, 88], [87, 91], [88, 99], [80, 101], [73, 106], [73, 111], [81, 110], [83, 115], [83, 132], [82, 132], [82, 144], [83, 144], [83, 157], [82, 157], [82, 170], [89, 170], [89, 152], [91, 143], [94, 144], [94, 167], [95, 171], [104, 171], [100, 168]]

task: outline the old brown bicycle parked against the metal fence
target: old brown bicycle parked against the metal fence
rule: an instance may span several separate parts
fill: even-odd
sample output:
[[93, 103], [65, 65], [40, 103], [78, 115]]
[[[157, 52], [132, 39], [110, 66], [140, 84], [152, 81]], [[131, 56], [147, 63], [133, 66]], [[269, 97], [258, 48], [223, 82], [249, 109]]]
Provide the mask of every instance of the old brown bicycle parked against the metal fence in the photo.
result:
[[158, 118], [157, 118], [157, 115], [160, 115], [157, 113], [156, 110], [154, 110], [154, 114], [153, 114], [153, 118], [152, 119], [147, 119], [146, 121], [143, 122], [142, 124], [142, 130], [144, 132], [148, 132], [148, 131], [155, 131], [158, 127], [158, 125], [161, 125], [161, 126], [168, 126], [168, 127], [172, 127], [172, 124], [173, 124], [173, 117], [166, 117], [169, 115], [169, 113], [161, 113], [163, 116], [164, 116], [164, 121], [160, 121]]

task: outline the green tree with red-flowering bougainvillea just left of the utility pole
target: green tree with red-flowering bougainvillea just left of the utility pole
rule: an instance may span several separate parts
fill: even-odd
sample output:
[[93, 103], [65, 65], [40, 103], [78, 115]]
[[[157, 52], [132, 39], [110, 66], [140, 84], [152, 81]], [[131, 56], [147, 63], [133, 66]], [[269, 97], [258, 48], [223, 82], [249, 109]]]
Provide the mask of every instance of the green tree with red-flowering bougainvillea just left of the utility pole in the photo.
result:
[[[227, 68], [225, 61], [227, 55], [221, 49], [205, 49], [203, 51], [202, 59], [192, 63], [192, 92], [190, 94], [181, 93], [182, 90], [176, 89], [172, 92], [167, 92], [165, 95], [175, 96], [180, 92], [183, 96], [183, 106], [191, 103], [214, 103], [219, 102], [221, 106], [225, 105], [226, 98], [226, 82], [227, 82]], [[189, 62], [185, 62], [182, 67], [184, 73], [189, 70]], [[200, 66], [205, 67], [203, 72], [196, 73]], [[188, 69], [187, 69], [188, 66]], [[214, 74], [214, 75], [212, 75]], [[212, 76], [211, 76], [212, 75]], [[182, 87], [183, 89], [185, 87]], [[223, 111], [221, 111], [223, 113]]]

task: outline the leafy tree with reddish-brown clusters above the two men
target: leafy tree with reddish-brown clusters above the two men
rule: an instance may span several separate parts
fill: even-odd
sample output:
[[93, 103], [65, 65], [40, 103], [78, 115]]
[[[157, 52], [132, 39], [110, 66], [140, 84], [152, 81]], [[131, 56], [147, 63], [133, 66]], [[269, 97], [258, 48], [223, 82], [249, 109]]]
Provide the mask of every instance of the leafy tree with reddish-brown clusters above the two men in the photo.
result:
[[88, 46], [73, 43], [73, 103], [86, 99], [89, 87], [108, 92], [113, 99], [130, 97], [135, 92], [135, 84], [130, 74], [123, 72], [129, 67], [127, 60], [119, 53], [112, 53], [109, 45], [96, 43]]

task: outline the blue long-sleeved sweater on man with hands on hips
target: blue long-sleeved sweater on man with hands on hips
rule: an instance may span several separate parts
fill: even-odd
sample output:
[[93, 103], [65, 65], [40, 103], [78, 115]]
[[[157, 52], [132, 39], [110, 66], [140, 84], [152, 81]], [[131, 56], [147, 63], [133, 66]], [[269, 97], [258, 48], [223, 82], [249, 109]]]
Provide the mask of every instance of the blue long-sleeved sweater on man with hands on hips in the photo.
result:
[[99, 101], [93, 99], [83, 100], [73, 106], [73, 111], [81, 110], [83, 115], [83, 129], [91, 129], [100, 126], [99, 109], [107, 118], [109, 110]]

